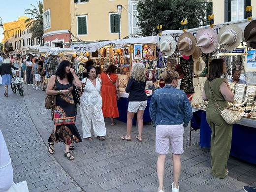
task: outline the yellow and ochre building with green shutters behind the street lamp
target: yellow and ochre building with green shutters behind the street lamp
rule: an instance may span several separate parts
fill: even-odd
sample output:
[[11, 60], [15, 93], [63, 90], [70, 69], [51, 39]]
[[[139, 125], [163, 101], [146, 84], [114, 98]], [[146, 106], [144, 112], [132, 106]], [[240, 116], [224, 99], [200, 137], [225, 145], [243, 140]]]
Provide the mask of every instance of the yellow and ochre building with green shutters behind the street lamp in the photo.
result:
[[44, 0], [44, 45], [118, 39], [118, 4], [121, 38], [139, 32], [136, 0]]

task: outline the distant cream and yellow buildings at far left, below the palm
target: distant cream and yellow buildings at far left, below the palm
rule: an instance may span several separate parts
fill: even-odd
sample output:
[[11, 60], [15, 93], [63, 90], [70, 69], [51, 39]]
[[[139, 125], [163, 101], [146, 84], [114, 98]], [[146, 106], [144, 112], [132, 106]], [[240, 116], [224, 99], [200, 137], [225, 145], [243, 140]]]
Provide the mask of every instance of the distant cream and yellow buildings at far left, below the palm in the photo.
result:
[[4, 51], [10, 54], [25, 54], [32, 45], [40, 46], [40, 38], [31, 38], [31, 29], [24, 23], [28, 17], [19, 17], [17, 21], [3, 24]]

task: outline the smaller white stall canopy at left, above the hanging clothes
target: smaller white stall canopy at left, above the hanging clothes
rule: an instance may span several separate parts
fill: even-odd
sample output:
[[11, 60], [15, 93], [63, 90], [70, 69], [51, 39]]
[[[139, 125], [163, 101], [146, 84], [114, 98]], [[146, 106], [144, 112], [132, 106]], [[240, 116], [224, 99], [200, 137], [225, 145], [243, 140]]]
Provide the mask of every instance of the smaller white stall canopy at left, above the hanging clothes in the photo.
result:
[[41, 47], [41, 46], [30, 46], [28, 50], [29, 53], [45, 53], [51, 55], [72, 55], [76, 54], [76, 52], [72, 51], [72, 48], [60, 48], [60, 47]]

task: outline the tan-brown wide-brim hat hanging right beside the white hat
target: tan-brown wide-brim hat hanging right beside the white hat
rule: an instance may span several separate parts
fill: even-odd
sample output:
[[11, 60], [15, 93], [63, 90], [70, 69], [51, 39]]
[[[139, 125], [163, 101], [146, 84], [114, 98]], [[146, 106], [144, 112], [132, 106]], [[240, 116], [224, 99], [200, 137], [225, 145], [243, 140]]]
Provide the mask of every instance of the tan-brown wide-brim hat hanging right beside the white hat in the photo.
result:
[[190, 56], [193, 54], [196, 46], [194, 35], [190, 32], [184, 32], [178, 39], [178, 49], [183, 55]]

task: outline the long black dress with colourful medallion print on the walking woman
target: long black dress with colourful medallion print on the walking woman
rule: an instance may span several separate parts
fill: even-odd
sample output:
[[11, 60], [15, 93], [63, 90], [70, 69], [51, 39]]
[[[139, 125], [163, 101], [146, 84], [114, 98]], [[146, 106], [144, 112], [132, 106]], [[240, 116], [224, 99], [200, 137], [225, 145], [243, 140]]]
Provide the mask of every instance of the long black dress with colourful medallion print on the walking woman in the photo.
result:
[[67, 145], [82, 142], [75, 126], [75, 103], [72, 96], [73, 84], [64, 85], [57, 80], [55, 90], [69, 90], [70, 92], [67, 95], [56, 96], [56, 106], [53, 111], [54, 128], [48, 142], [64, 142]]

